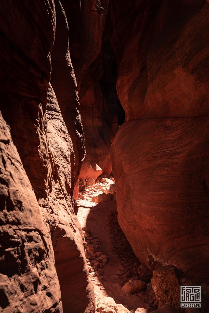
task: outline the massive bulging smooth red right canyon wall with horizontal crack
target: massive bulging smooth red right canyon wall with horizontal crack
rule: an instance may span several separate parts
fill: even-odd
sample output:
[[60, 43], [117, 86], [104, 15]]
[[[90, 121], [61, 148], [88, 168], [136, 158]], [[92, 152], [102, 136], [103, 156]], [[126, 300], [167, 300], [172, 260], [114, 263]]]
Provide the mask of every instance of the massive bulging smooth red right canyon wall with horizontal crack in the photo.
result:
[[208, 35], [204, 0], [113, 1], [108, 29], [126, 120], [111, 148], [118, 220], [150, 269], [208, 277]]

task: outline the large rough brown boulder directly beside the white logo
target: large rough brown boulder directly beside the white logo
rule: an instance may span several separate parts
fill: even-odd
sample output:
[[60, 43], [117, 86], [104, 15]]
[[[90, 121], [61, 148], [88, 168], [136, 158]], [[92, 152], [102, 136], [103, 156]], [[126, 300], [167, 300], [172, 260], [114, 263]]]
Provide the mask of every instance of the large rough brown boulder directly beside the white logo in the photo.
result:
[[153, 271], [152, 288], [157, 299], [164, 304], [180, 308], [180, 285], [192, 285], [191, 280], [174, 265], [162, 266]]

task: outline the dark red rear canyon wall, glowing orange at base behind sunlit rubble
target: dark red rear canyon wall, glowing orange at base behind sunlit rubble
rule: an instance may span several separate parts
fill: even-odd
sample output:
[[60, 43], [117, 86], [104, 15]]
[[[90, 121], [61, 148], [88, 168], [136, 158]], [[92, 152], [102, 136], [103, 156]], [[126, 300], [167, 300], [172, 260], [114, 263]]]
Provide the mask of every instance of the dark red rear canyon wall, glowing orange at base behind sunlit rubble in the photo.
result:
[[[106, 15], [94, 11], [93, 4], [107, 7], [108, 1], [63, 0], [70, 29], [70, 51], [78, 84], [82, 124], [85, 134], [86, 158], [81, 166], [80, 179], [96, 179], [102, 172], [112, 171], [110, 146], [118, 130], [117, 114], [102, 95], [99, 80], [104, 68], [102, 63], [102, 36]], [[113, 126], [114, 125], [114, 126]], [[113, 127], [112, 127], [113, 126]], [[76, 197], [76, 195], [75, 195]]]

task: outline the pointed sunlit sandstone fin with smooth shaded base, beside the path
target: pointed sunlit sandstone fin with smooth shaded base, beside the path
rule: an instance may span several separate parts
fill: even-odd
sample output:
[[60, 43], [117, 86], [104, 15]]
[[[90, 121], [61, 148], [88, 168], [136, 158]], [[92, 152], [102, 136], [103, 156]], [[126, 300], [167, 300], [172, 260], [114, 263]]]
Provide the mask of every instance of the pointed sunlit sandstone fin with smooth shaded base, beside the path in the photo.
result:
[[[50, 232], [60, 282], [63, 312], [93, 312], [94, 290], [83, 249], [83, 233], [70, 197], [73, 145], [53, 89], [48, 91], [47, 134], [52, 168]], [[48, 218], [48, 216], [46, 216]], [[81, 234], [83, 241], [81, 239]]]

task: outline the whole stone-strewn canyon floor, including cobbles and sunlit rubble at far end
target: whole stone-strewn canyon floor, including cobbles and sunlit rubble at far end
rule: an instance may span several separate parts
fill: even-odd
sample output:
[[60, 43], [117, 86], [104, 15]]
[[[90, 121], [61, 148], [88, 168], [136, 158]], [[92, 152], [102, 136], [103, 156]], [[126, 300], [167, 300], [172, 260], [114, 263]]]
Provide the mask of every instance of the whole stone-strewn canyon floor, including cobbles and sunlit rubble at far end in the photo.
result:
[[[122, 304], [123, 309], [127, 308], [135, 312], [138, 308], [144, 308], [151, 312], [158, 305], [158, 300], [151, 287], [153, 275], [148, 268], [140, 264], [120, 228], [115, 200], [115, 184], [111, 185], [110, 183], [112, 176], [104, 177], [103, 175], [98, 177], [95, 185], [83, 186], [82, 193], [79, 194], [80, 199], [75, 202], [74, 207], [86, 239], [86, 260], [87, 264], [90, 264], [89, 270], [94, 285], [95, 301], [111, 297], [116, 304]], [[92, 181], [89, 179], [87, 183], [91, 184]], [[82, 184], [82, 182], [80, 183]], [[110, 189], [112, 189], [112, 194], [108, 193]], [[89, 254], [88, 245], [94, 245], [91, 254]], [[103, 263], [102, 258], [101, 261], [98, 259], [99, 255], [107, 257], [106, 264]], [[98, 264], [97, 260], [101, 263]], [[97, 266], [94, 266], [93, 262], [97, 262]], [[122, 287], [130, 279], [146, 281], [147, 290], [134, 294], [126, 293]]]

